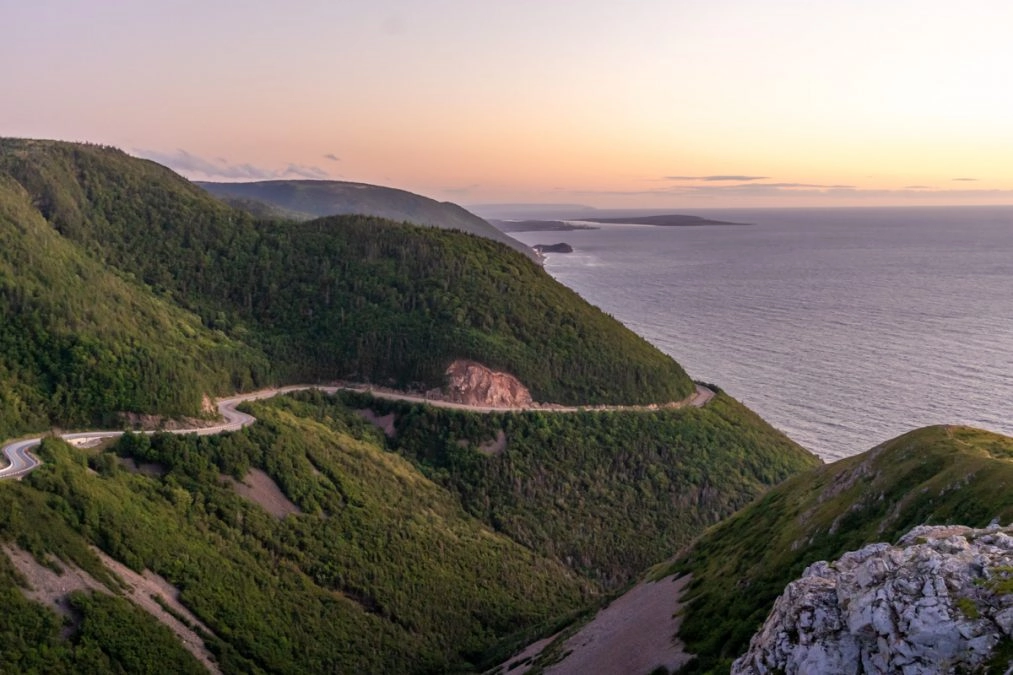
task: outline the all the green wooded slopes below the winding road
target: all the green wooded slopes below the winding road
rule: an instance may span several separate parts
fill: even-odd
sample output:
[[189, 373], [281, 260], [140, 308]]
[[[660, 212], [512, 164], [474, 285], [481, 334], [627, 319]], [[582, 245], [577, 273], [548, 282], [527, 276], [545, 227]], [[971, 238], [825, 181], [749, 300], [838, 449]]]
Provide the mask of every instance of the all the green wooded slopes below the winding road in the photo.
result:
[[[0, 483], [0, 539], [116, 597], [125, 589], [91, 546], [158, 575], [226, 673], [482, 670], [815, 462], [733, 401], [715, 402], [484, 416], [305, 392], [251, 404], [259, 421], [235, 434], [94, 449], [48, 440], [40, 469]], [[394, 438], [357, 414], [364, 405], [390, 405]], [[505, 445], [483, 451], [499, 432]], [[271, 515], [278, 499], [240, 496], [233, 481], [251, 471], [290, 507]], [[7, 669], [189, 663], [150, 616], [93, 592], [72, 596], [85, 623], [60, 639], [60, 619], [22, 597], [8, 555]], [[149, 653], [140, 646], [152, 635]]]

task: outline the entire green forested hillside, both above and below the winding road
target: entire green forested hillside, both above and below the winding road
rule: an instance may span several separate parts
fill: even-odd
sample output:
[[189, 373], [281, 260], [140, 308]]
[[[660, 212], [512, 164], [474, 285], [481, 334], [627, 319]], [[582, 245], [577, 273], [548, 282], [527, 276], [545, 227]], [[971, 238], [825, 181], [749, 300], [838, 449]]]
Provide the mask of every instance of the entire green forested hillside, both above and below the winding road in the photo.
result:
[[[0, 318], [3, 437], [197, 415], [206, 394], [291, 381], [427, 389], [462, 358], [541, 401], [693, 391], [495, 241], [258, 220], [157, 164], [68, 143], [0, 140]], [[389, 438], [367, 408], [393, 416]], [[481, 669], [817, 463], [723, 394], [476, 415], [307, 393], [252, 411], [225, 436], [47, 440], [42, 468], [0, 483], [0, 669], [198, 668], [125, 599], [115, 560], [178, 590], [225, 672]], [[266, 480], [274, 506], [237, 480]], [[71, 623], [23, 597], [38, 591], [26, 559], [91, 579], [61, 591]]]

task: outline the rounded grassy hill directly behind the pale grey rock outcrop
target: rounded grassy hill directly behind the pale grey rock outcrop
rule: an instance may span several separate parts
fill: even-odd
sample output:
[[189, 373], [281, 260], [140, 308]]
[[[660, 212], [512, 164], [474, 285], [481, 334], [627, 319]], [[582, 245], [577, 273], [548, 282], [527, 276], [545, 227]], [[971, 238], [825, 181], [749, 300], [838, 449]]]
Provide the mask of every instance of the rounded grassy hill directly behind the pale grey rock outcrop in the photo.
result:
[[682, 636], [698, 668], [727, 672], [806, 566], [922, 523], [1013, 520], [1013, 439], [929, 427], [796, 475], [701, 537], [676, 569], [694, 576]]

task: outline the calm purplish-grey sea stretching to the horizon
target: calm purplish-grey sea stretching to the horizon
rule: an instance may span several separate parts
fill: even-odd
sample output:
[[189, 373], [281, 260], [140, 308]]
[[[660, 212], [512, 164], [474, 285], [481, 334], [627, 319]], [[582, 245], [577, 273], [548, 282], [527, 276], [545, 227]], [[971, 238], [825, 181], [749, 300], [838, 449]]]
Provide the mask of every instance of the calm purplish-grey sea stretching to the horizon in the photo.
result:
[[696, 212], [546, 270], [827, 460], [911, 429], [1013, 435], [1013, 207]]

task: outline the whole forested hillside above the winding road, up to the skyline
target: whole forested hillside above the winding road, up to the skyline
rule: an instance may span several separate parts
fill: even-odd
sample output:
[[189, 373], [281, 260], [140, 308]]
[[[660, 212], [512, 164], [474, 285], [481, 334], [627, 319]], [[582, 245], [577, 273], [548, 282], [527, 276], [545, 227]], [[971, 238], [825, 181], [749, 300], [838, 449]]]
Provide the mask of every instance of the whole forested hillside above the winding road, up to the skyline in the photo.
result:
[[258, 221], [118, 150], [15, 139], [0, 140], [0, 431], [196, 414], [202, 393], [266, 382], [431, 388], [458, 358], [544, 401], [692, 391], [672, 359], [475, 236]]

